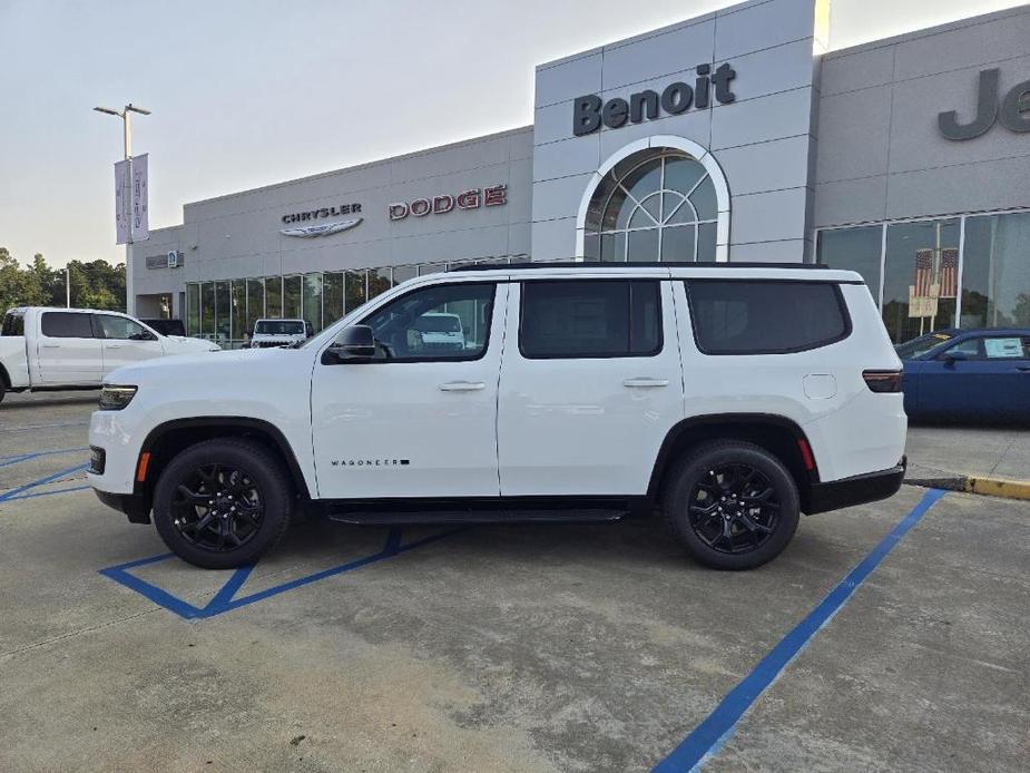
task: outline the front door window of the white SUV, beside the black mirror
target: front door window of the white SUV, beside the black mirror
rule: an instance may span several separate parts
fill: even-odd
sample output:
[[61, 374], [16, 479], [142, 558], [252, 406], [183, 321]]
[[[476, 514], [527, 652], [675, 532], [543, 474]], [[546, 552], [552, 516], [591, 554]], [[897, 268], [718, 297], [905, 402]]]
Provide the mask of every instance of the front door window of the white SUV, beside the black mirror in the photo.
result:
[[361, 323], [372, 327], [385, 360], [478, 360], [487, 351], [496, 290], [493, 283], [423, 287], [376, 309]]

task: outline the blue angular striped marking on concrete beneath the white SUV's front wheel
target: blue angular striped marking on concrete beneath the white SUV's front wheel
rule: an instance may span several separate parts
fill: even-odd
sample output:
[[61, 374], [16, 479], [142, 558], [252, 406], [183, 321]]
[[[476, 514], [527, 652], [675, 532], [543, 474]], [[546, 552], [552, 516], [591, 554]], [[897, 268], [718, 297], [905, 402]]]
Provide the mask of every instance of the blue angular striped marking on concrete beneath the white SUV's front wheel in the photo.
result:
[[[383, 545], [382, 550], [379, 552], [347, 561], [346, 564], [342, 564], [340, 566], [323, 569], [322, 571], [315, 571], [311, 575], [305, 575], [304, 577], [298, 577], [287, 583], [282, 583], [271, 588], [265, 588], [264, 590], [259, 590], [248, 596], [235, 598], [236, 593], [241, 587], [243, 587], [243, 584], [246, 583], [247, 578], [251, 576], [251, 573], [254, 571], [254, 567], [256, 565], [252, 564], [249, 566], [236, 569], [232, 577], [229, 577], [229, 579], [225, 583], [225, 585], [223, 585], [222, 588], [219, 588], [218, 591], [214, 595], [212, 600], [203, 607], [194, 606], [193, 604], [183, 600], [182, 598], [173, 595], [164, 588], [158, 587], [153, 583], [148, 583], [147, 580], [140, 579], [129, 571], [130, 569], [135, 569], [137, 567], [168, 560], [169, 558], [174, 558], [175, 554], [165, 552], [160, 554], [159, 556], [140, 558], [135, 561], [128, 561], [126, 564], [119, 564], [118, 566], [100, 569], [99, 573], [105, 577], [124, 585], [130, 590], [135, 590], [150, 601], [154, 601], [154, 604], [157, 604], [158, 606], [175, 613], [184, 619], [204, 619], [207, 617], [215, 617], [216, 615], [225, 614], [233, 609], [238, 609], [239, 607], [245, 607], [249, 604], [254, 604], [255, 601], [262, 601], [266, 598], [278, 596], [279, 594], [294, 590], [305, 585], [311, 585], [312, 583], [317, 583], [320, 580], [326, 579], [327, 577], [342, 575], [347, 571], [353, 571], [354, 569], [360, 569], [363, 566], [369, 566], [370, 564], [376, 564], [388, 558], [393, 558], [395, 556], [410, 552], [411, 550], [415, 550], [416, 548], [435, 542], [440, 539], [443, 539], [444, 537], [450, 537], [451, 535], [464, 531], [465, 529], [468, 529], [468, 527], [461, 526], [457, 529], [448, 529], [447, 531], [430, 535], [429, 537], [422, 537], [414, 540], [413, 542], [403, 545], [401, 542], [401, 529], [393, 528], [390, 529], [389, 534], [386, 535], [386, 541]], [[198, 569], [198, 571], [200, 570]]]

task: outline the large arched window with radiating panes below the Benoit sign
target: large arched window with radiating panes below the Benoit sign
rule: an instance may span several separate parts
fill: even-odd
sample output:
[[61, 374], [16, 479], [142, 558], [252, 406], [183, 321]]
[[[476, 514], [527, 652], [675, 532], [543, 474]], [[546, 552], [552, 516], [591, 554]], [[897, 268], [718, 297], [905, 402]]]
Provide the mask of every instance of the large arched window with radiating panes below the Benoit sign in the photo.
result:
[[716, 188], [700, 162], [648, 148], [616, 164], [590, 198], [585, 261], [715, 261]]

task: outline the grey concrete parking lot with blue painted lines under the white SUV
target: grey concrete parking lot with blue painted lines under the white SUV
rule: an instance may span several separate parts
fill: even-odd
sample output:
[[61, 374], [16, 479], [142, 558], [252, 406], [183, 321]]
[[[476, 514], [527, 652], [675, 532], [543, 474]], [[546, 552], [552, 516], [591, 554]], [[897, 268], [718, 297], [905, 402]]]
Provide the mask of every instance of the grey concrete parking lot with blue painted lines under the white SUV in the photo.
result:
[[308, 521], [213, 573], [84, 488], [95, 401], [0, 405], [0, 770], [1030, 759], [1030, 502], [905, 486], [744, 574], [649, 520]]

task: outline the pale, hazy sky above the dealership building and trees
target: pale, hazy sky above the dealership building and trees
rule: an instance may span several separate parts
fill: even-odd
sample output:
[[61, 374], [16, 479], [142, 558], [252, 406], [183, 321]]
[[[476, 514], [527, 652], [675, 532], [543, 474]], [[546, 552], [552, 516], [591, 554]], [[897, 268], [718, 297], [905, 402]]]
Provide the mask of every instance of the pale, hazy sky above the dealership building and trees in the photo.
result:
[[[0, 0], [0, 246], [124, 260], [121, 121], [150, 227], [183, 204], [532, 123], [533, 68], [725, 0]], [[831, 48], [1020, 4], [832, 0]]]

